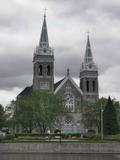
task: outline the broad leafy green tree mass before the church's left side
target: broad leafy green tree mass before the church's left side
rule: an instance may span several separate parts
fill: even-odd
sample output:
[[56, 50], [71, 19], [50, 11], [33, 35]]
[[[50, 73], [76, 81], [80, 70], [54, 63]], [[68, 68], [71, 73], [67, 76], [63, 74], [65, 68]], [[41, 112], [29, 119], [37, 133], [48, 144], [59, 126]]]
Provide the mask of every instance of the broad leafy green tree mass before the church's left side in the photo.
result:
[[16, 99], [13, 119], [26, 132], [39, 129], [45, 133], [47, 128], [60, 123], [66, 112], [60, 97], [49, 91], [32, 91], [28, 96]]

